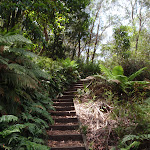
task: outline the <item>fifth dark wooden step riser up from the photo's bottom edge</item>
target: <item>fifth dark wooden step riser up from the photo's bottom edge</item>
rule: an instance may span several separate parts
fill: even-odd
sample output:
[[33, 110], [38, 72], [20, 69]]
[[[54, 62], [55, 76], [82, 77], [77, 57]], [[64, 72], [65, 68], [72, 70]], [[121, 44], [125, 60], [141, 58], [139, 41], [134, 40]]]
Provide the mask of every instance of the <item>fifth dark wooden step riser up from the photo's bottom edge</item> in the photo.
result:
[[52, 116], [76, 116], [76, 112], [75, 111], [71, 111], [71, 112], [67, 112], [67, 111], [51, 111], [50, 112]]

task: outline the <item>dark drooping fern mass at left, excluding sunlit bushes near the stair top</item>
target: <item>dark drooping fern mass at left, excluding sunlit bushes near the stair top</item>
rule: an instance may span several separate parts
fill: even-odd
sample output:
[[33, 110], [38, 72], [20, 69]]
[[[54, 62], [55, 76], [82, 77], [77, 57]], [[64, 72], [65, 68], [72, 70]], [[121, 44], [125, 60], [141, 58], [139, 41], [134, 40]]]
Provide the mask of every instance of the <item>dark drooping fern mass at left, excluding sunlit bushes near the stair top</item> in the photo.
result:
[[[4, 45], [9, 45], [8, 40], [5, 42]], [[36, 143], [38, 140], [32, 142], [33, 137], [38, 139], [46, 135], [48, 124], [53, 123], [48, 112], [53, 109], [52, 102], [45, 87], [40, 84], [43, 80], [47, 81], [49, 75], [31, 61], [31, 53], [24, 53], [23, 49], [10, 51], [8, 47], [0, 57], [1, 148], [49, 149], [41, 145], [45, 143]]]

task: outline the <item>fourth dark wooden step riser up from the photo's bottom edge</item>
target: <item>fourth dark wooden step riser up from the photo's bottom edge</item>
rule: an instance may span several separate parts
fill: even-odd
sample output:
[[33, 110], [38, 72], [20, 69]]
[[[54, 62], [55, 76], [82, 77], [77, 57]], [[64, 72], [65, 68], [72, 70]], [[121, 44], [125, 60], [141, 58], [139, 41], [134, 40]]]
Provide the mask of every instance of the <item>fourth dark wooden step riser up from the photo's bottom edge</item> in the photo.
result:
[[56, 123], [78, 123], [78, 118], [56, 118]]

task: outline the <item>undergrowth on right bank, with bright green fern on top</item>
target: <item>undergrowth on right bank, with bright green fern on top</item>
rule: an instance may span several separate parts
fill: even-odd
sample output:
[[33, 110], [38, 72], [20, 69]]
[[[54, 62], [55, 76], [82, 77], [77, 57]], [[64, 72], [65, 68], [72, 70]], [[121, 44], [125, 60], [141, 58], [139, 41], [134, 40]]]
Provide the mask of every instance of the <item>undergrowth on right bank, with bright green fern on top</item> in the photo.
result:
[[111, 108], [109, 110], [111, 119], [116, 121], [115, 127], [114, 125], [110, 127], [110, 135], [116, 134], [116, 139], [119, 140], [112, 150], [148, 150], [150, 149], [149, 82], [129, 80], [133, 76], [139, 77], [144, 68], [129, 77], [124, 76], [123, 69], [119, 71], [120, 68], [116, 66], [111, 71], [102, 66], [101, 71], [106, 74], [95, 76], [90, 86], [91, 94], [96, 96], [96, 100], [105, 100]]

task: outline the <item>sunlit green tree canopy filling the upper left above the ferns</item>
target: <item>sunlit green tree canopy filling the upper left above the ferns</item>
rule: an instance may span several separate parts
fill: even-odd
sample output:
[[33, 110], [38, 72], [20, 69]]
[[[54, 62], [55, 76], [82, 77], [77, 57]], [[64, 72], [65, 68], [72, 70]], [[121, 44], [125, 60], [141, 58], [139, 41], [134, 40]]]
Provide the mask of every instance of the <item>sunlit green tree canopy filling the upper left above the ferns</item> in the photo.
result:
[[0, 27], [3, 33], [23, 32], [35, 45], [32, 51], [40, 55], [66, 58], [72, 51], [70, 43], [87, 37], [90, 16], [85, 9], [89, 3], [90, 0], [2, 0]]

